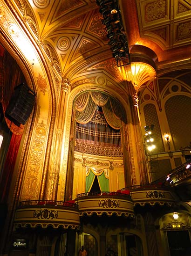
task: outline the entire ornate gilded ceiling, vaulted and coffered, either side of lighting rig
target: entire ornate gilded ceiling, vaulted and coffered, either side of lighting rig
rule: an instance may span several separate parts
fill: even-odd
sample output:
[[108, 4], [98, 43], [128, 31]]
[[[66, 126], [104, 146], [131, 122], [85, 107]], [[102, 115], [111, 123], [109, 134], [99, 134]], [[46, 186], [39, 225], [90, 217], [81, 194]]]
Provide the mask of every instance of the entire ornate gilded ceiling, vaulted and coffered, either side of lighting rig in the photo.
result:
[[[6, 0], [60, 76], [103, 68], [120, 77], [96, 0]], [[146, 47], [158, 70], [191, 58], [190, 0], [119, 0], [130, 52]], [[15, 10], [14, 10], [15, 9]], [[142, 46], [146, 46], [142, 49]]]

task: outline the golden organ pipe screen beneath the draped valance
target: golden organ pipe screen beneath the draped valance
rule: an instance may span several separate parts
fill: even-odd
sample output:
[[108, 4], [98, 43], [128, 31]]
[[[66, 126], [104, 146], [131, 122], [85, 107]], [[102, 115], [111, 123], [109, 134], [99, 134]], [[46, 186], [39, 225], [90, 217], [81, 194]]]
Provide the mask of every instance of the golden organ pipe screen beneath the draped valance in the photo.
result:
[[101, 107], [97, 106], [89, 123], [76, 123], [75, 151], [112, 157], [123, 155], [121, 132], [107, 124]]

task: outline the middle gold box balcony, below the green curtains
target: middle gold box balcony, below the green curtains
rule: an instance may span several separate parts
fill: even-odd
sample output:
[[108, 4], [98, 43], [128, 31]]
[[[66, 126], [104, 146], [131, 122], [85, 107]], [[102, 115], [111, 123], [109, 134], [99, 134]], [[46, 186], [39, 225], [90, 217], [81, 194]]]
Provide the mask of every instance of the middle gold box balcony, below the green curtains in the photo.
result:
[[129, 192], [82, 193], [77, 195], [75, 203], [79, 207], [80, 217], [96, 214], [134, 218], [133, 202]]

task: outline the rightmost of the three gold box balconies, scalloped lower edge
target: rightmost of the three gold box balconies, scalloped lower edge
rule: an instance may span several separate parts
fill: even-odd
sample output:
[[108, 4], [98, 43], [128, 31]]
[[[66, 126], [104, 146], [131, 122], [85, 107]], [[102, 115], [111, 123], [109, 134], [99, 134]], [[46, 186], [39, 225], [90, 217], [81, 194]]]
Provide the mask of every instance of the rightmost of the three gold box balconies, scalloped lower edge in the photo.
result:
[[122, 189], [130, 190], [133, 205], [174, 205], [177, 201], [176, 195], [171, 187], [164, 184], [137, 185]]

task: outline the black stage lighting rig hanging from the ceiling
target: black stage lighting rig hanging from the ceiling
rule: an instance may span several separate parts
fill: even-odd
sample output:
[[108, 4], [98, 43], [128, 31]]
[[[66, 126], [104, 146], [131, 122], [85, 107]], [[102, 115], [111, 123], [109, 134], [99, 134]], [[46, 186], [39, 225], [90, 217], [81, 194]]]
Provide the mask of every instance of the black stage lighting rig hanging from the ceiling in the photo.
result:
[[121, 11], [118, 0], [96, 0], [103, 16], [102, 23], [106, 26], [112, 56], [116, 59], [117, 66], [130, 64], [130, 52], [127, 38], [123, 29]]

